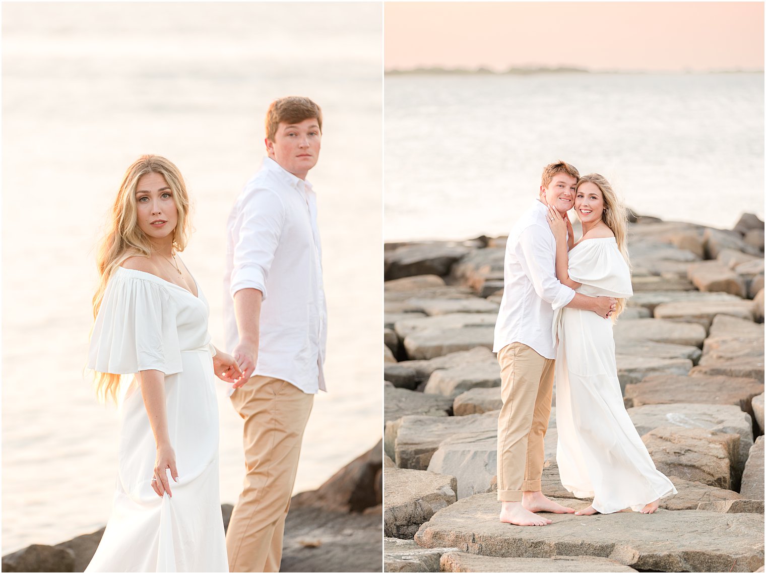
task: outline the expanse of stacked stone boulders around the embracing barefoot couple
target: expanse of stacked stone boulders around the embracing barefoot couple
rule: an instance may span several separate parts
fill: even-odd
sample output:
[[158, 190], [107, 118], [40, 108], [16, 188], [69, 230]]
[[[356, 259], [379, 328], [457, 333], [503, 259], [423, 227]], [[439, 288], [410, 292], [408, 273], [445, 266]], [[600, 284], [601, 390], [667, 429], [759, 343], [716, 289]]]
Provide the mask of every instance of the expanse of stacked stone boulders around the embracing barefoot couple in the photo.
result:
[[[491, 349], [505, 244], [385, 247], [385, 571], [762, 571], [764, 222], [630, 224], [634, 295], [614, 326], [618, 376], [678, 494], [652, 515], [548, 514], [542, 528], [497, 520]], [[561, 486], [556, 441], [554, 406], [543, 492], [584, 508]]]

